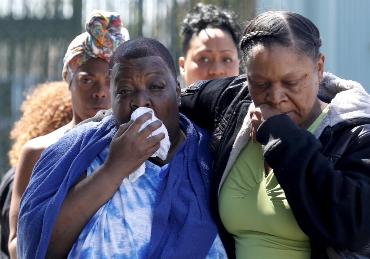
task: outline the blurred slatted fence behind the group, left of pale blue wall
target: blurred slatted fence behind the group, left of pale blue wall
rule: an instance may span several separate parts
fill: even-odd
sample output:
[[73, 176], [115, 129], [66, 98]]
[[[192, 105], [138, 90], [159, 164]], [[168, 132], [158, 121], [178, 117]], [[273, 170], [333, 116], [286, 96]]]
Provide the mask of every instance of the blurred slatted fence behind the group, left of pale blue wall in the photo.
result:
[[239, 21], [254, 16], [254, 0], [1, 0], [0, 175], [9, 168], [9, 132], [25, 94], [38, 83], [61, 80], [65, 51], [92, 10], [119, 13], [131, 38], [161, 41], [177, 64], [180, 23], [198, 2], [237, 11]]

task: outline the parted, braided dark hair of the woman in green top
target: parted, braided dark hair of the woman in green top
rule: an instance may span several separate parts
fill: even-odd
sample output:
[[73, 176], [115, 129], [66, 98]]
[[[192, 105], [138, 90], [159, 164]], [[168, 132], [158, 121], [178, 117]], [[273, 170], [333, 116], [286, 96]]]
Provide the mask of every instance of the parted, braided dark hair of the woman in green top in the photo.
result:
[[239, 45], [243, 62], [258, 44], [293, 46], [298, 53], [316, 60], [321, 39], [317, 27], [306, 17], [290, 11], [268, 11], [246, 23]]

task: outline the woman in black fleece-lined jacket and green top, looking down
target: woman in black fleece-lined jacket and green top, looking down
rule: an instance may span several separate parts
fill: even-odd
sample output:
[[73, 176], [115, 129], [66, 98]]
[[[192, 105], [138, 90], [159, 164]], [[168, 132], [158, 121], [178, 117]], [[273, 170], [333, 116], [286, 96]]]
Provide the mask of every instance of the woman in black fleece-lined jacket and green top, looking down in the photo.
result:
[[213, 133], [211, 208], [229, 258], [370, 258], [370, 96], [324, 73], [299, 14], [247, 23], [246, 74], [192, 84], [182, 108]]

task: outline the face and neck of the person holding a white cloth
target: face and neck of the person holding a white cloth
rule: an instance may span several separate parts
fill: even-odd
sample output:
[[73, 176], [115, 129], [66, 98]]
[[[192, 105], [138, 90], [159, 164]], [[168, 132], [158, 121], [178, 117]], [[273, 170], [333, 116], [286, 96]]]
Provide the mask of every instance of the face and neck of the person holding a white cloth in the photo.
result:
[[167, 159], [154, 159], [167, 164], [185, 140], [180, 131], [177, 108], [181, 97], [179, 81], [172, 77], [171, 71], [158, 56], [117, 63], [113, 67], [112, 77], [115, 78], [111, 81], [112, 110], [117, 127], [127, 123], [138, 107], [152, 108], [155, 116], [167, 128], [171, 139]]

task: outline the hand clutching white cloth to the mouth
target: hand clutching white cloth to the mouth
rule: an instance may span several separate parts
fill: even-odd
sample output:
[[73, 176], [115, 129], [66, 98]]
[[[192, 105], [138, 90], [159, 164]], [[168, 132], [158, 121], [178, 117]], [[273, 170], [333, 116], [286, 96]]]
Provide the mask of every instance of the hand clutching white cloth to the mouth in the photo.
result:
[[148, 136], [161, 127], [162, 122], [154, 121], [138, 132], [141, 125], [151, 117], [151, 113], [147, 112], [135, 121], [131, 120], [118, 128], [117, 133], [112, 138], [110, 149], [104, 162], [105, 166], [116, 172], [126, 173], [125, 178], [159, 149], [161, 146], [160, 141], [165, 137], [164, 133], [150, 138]]

